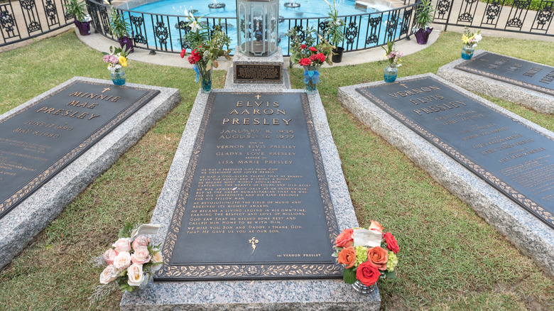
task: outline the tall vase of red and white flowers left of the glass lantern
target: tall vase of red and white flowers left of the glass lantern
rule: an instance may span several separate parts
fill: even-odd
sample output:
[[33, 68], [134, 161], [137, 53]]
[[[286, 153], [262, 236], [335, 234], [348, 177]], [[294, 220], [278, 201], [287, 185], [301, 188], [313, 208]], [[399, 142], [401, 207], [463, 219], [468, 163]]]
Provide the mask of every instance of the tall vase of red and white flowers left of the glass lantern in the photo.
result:
[[[183, 36], [183, 45], [187, 45], [192, 50], [188, 57], [188, 62], [194, 65], [196, 72], [196, 82], [199, 77], [202, 80], [202, 92], [209, 93], [212, 90], [212, 69], [219, 67], [217, 58], [223, 56], [227, 60], [232, 60], [229, 53], [231, 49], [225, 50], [223, 47], [229, 47], [231, 38], [222, 30], [221, 19], [219, 23], [210, 29], [206, 25], [198, 22], [198, 18], [185, 10], [190, 23], [190, 31]], [[181, 51], [181, 58], [187, 55], [186, 49]]]

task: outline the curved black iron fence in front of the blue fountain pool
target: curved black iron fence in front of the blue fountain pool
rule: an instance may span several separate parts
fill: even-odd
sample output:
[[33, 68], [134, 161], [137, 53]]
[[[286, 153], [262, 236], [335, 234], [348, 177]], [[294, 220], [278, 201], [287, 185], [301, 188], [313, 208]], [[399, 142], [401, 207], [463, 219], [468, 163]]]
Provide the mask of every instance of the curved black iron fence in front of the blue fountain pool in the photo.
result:
[[[94, 0], [86, 0], [92, 16], [94, 28], [107, 38], [114, 38], [109, 31], [109, 6]], [[376, 13], [360, 13], [352, 16], [340, 16], [345, 22], [344, 42], [339, 44], [345, 51], [364, 50], [384, 45], [389, 40], [401, 40], [411, 36], [413, 15], [416, 4], [403, 6], [399, 9]], [[163, 52], [180, 53], [188, 48], [181, 40], [190, 31], [186, 16], [161, 15], [118, 9], [131, 24], [134, 46]], [[202, 23], [213, 27], [221, 20], [222, 28], [231, 38], [235, 38], [237, 18], [234, 17], [204, 17]], [[283, 54], [288, 55], [290, 39], [285, 36], [288, 29], [294, 29], [300, 36], [313, 27], [320, 33], [325, 30], [325, 18], [280, 18], [280, 38]], [[286, 29], [283, 29], [286, 28]], [[234, 46], [228, 47], [234, 48]]]

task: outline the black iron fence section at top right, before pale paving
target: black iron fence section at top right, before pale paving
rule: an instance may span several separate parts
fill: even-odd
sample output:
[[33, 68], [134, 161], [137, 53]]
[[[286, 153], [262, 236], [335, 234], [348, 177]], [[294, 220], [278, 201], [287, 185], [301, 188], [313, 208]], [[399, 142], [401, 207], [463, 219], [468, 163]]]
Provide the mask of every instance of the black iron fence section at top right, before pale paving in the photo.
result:
[[554, 1], [536, 0], [538, 6], [531, 9], [531, 0], [437, 0], [434, 23], [448, 26], [470, 26], [472, 28], [491, 29], [530, 33], [541, 36], [554, 36], [552, 19]]

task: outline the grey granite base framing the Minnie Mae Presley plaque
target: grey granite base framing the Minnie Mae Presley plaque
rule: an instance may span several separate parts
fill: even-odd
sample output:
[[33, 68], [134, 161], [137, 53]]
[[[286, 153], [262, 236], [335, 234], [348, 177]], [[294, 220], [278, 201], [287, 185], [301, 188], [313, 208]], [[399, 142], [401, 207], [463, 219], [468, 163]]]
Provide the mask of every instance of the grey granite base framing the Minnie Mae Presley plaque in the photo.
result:
[[[112, 81], [73, 77], [2, 114], [0, 120], [18, 114], [67, 85], [80, 81], [113, 85]], [[158, 90], [160, 93], [0, 219], [0, 268], [4, 268], [26, 247], [33, 236], [43, 231], [63, 212], [67, 204], [85, 190], [87, 185], [107, 170], [121, 154], [139, 141], [156, 121], [180, 102], [178, 89], [132, 83], [126, 86]]]

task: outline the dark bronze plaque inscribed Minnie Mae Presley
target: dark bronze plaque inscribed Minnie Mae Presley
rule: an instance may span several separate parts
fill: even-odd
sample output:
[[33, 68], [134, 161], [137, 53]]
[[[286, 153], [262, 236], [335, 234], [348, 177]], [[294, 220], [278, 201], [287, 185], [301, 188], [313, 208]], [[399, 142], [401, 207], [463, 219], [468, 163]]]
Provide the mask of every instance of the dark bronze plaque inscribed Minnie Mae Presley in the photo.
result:
[[0, 218], [158, 93], [76, 81], [0, 120]]

